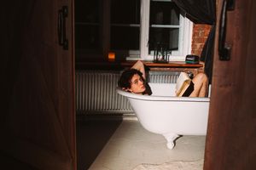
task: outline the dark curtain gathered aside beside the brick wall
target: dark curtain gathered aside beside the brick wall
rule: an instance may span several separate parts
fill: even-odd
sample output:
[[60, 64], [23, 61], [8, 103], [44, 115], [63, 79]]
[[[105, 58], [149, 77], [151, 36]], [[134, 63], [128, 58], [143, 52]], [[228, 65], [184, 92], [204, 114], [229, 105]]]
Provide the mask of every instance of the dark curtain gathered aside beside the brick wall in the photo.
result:
[[212, 82], [212, 62], [216, 23], [216, 0], [173, 0], [195, 24], [211, 25], [211, 31], [201, 52], [201, 61], [205, 62], [205, 72]]

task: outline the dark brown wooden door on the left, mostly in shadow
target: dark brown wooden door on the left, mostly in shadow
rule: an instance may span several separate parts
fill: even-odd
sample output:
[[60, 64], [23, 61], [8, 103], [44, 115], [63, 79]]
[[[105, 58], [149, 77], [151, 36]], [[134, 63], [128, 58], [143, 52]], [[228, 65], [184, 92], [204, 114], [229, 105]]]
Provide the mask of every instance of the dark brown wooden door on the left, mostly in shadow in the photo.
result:
[[[76, 169], [73, 0], [1, 8], [0, 149], [38, 169]], [[58, 35], [67, 38], [65, 49]]]

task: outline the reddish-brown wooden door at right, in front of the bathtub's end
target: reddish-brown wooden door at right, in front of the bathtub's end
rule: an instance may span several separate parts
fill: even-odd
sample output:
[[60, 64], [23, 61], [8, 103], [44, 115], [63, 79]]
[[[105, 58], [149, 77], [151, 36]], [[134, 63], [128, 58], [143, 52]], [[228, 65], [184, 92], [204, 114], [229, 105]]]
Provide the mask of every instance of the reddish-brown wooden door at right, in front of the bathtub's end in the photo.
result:
[[[206, 170], [256, 169], [256, 2], [233, 2], [226, 12], [230, 60], [219, 59], [220, 29], [215, 38]], [[223, 4], [218, 1], [217, 27]]]

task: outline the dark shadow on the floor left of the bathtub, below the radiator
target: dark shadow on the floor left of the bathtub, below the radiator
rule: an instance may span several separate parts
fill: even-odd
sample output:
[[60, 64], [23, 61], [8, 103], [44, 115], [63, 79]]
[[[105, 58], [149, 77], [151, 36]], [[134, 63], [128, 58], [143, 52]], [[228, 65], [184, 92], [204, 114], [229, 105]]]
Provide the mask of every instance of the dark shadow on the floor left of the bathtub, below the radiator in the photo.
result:
[[119, 116], [77, 117], [78, 170], [90, 167], [121, 122]]

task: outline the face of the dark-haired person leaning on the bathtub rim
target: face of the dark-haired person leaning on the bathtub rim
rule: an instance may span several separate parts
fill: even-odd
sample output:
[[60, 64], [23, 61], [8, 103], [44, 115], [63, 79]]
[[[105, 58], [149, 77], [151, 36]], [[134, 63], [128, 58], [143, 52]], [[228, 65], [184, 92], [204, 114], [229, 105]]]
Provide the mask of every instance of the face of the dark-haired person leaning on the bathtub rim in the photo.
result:
[[131, 77], [131, 88], [128, 88], [128, 90], [134, 94], [143, 94], [146, 90], [143, 79], [138, 74]]

